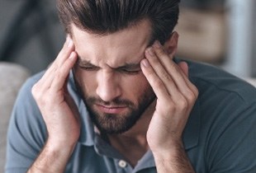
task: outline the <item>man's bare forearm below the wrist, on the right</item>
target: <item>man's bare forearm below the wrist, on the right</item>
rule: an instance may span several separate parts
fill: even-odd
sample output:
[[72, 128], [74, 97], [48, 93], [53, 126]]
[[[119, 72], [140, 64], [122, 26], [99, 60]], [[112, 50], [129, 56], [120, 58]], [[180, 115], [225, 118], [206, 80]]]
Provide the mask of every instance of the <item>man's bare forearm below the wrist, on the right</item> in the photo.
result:
[[154, 153], [154, 161], [158, 173], [195, 173], [183, 144], [177, 144], [168, 152]]

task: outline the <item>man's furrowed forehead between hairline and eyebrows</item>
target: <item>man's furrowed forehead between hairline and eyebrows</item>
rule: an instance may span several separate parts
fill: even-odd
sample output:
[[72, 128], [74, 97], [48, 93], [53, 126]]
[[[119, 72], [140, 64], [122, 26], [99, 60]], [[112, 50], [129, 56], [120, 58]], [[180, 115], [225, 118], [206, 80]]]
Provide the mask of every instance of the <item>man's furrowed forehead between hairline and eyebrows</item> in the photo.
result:
[[123, 63], [139, 63], [148, 47], [151, 26], [140, 21], [136, 26], [108, 35], [96, 35], [72, 25], [76, 52], [83, 60], [113, 68]]

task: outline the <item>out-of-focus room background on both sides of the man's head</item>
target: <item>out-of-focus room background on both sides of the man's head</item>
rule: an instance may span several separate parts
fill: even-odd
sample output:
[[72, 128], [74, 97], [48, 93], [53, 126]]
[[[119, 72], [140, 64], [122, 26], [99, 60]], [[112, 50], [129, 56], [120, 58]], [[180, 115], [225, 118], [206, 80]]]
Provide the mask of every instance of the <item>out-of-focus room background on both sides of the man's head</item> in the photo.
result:
[[[0, 0], [0, 61], [31, 73], [52, 62], [64, 43], [53, 0]], [[256, 1], [182, 0], [178, 56], [256, 76]]]

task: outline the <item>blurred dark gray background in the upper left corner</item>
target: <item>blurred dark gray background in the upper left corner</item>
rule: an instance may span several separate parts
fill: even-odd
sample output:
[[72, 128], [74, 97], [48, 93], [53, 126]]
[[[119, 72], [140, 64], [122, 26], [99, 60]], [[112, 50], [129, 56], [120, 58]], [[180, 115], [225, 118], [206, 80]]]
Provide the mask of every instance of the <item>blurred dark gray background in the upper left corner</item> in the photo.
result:
[[[37, 1], [40, 2], [40, 8], [29, 9], [28, 12], [31, 13], [22, 21], [17, 21], [21, 25], [14, 28], [13, 22], [24, 14], [21, 9], [29, 1], [0, 1], [0, 59], [20, 63], [32, 73], [45, 69], [59, 53], [64, 42], [64, 30], [59, 24], [55, 1]], [[45, 18], [41, 18], [42, 14]], [[17, 44], [18, 49], [12, 48], [9, 54], [1, 54], [8, 41], [12, 40], [12, 36], [21, 28], [23, 31], [13, 44]]]

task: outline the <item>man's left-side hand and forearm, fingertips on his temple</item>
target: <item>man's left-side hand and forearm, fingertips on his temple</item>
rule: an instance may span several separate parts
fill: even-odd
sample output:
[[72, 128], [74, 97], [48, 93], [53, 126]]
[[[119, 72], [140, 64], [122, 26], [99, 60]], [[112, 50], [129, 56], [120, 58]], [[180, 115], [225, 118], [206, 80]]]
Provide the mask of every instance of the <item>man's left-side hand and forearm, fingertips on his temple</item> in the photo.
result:
[[32, 88], [45, 120], [48, 139], [29, 172], [62, 172], [80, 135], [78, 108], [67, 89], [69, 72], [76, 62], [73, 40], [63, 49], [44, 76]]

